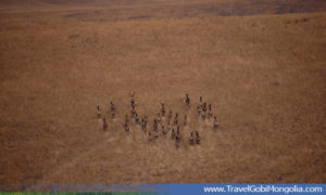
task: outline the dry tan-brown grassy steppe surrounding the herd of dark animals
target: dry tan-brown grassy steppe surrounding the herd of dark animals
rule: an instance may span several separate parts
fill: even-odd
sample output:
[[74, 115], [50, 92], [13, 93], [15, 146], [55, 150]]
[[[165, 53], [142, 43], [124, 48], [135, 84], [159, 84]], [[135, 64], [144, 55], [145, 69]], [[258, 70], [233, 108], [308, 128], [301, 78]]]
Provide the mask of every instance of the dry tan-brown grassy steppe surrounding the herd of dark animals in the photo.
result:
[[[141, 17], [160, 4], [116, 6], [114, 18], [2, 6], [0, 183], [326, 182], [326, 12]], [[150, 145], [135, 125], [124, 132], [129, 91], [151, 117], [161, 101], [183, 116], [190, 94], [179, 150], [170, 138]], [[200, 95], [216, 132], [196, 117]]]

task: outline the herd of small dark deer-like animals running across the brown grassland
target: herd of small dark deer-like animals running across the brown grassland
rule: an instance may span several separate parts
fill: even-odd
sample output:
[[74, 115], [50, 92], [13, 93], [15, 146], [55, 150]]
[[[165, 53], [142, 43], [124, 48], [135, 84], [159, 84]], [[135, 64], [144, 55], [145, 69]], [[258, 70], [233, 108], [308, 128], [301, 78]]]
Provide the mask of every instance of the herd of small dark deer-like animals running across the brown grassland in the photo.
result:
[[[128, 133], [130, 131], [130, 122], [131, 120], [137, 125], [141, 126], [141, 130], [148, 135], [148, 141], [150, 143], [154, 142], [159, 139], [159, 136], [166, 138], [167, 134], [171, 134], [171, 139], [175, 141], [175, 145], [178, 148], [180, 146], [181, 142], [181, 133], [180, 133], [180, 125], [179, 121], [179, 114], [175, 113], [173, 114], [172, 110], [168, 110], [168, 114], [165, 110], [165, 103], [161, 102], [161, 110], [158, 113], [158, 115], [152, 119], [152, 128], [148, 126], [149, 123], [149, 117], [143, 116], [140, 117], [137, 114], [136, 110], [136, 102], [135, 102], [135, 92], [129, 93], [130, 95], [130, 117], [128, 114], [125, 114], [125, 119], [123, 121], [124, 130]], [[199, 105], [197, 105], [197, 115], [198, 118], [201, 118], [202, 120], [211, 120], [211, 118], [214, 118], [212, 122], [212, 129], [217, 130], [218, 123], [216, 116], [213, 116], [212, 112], [212, 104], [206, 104], [203, 102], [202, 96], [199, 99]], [[185, 103], [187, 108], [190, 108], [190, 98], [189, 94], [186, 94]], [[108, 130], [108, 121], [105, 118], [102, 118], [100, 106], [97, 107], [98, 112], [98, 118], [102, 119], [103, 123], [103, 130]], [[110, 113], [111, 117], [116, 117], [116, 106], [113, 104], [113, 102], [110, 102]], [[165, 117], [167, 115], [166, 121]], [[184, 122], [183, 126], [186, 127], [188, 125], [188, 115], [185, 114], [184, 116]], [[160, 130], [161, 129], [161, 133]], [[190, 132], [190, 139], [189, 139], [190, 145], [199, 145], [200, 144], [200, 135], [198, 131], [191, 131]]]

